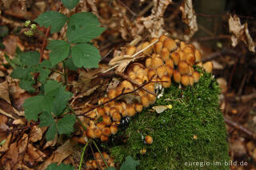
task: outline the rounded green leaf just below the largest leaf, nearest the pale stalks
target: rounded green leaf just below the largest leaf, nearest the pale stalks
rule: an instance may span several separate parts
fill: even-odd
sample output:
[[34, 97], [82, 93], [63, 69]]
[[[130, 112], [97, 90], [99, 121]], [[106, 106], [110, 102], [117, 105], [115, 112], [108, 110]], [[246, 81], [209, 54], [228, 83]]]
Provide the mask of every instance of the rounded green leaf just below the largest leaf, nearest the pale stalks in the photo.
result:
[[101, 56], [93, 45], [77, 44], [71, 49], [72, 60], [78, 68], [82, 66], [86, 69], [98, 68]]

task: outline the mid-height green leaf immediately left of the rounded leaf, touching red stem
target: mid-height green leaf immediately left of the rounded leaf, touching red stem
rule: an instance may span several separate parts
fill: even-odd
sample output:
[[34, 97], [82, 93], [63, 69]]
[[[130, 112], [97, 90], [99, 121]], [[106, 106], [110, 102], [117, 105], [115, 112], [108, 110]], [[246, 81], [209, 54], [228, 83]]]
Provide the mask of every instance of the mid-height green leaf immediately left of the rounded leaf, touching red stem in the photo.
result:
[[47, 49], [50, 49], [50, 62], [52, 65], [58, 64], [60, 61], [69, 57], [70, 44], [63, 40], [53, 40], [47, 45]]

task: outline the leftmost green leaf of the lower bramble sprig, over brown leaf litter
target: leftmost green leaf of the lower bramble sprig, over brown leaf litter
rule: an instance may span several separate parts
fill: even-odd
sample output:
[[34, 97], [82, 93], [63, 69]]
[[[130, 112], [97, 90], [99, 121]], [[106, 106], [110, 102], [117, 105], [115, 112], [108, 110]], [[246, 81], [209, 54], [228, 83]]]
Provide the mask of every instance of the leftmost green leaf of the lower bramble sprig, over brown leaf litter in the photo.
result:
[[38, 114], [42, 113], [46, 107], [46, 101], [44, 96], [35, 96], [26, 99], [23, 103], [25, 109], [25, 117], [27, 121], [38, 121]]

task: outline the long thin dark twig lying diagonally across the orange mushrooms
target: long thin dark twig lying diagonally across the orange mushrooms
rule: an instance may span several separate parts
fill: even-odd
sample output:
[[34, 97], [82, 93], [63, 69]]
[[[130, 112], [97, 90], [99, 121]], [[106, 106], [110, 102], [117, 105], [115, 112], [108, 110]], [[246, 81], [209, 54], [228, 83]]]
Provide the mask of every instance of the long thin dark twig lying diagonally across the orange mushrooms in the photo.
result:
[[107, 103], [110, 103], [111, 101], [115, 101], [118, 99], [118, 97], [121, 97], [121, 96], [124, 96], [126, 94], [131, 94], [131, 93], [134, 93], [136, 92], [138, 89], [142, 89], [142, 87], [144, 87], [145, 85], [148, 85], [150, 83], [157, 83], [157, 82], [166, 82], [166, 81], [147, 81], [146, 83], [143, 83], [141, 86], [139, 86], [137, 89], [134, 89], [133, 91], [130, 91], [130, 92], [127, 92], [127, 93], [121, 93], [119, 94], [118, 96], [114, 97], [113, 99], [110, 99], [109, 101], [105, 101], [105, 102], [102, 102], [100, 105], [96, 105], [94, 106], [93, 108], [87, 110], [85, 113], [81, 113], [81, 114], [78, 114], [77, 116], [83, 116], [83, 117], [86, 117], [86, 113], [90, 113], [91, 111], [93, 111], [94, 109], [97, 109], [99, 107], [101, 107], [102, 105], [106, 105]]

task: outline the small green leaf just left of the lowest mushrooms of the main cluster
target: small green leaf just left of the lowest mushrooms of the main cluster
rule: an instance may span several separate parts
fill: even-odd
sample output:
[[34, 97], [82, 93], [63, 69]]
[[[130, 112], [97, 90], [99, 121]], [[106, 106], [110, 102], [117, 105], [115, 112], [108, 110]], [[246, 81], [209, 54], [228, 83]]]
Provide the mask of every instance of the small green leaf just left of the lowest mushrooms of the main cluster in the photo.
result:
[[58, 121], [58, 133], [70, 135], [74, 130], [75, 116], [74, 115], [66, 115], [61, 120]]

